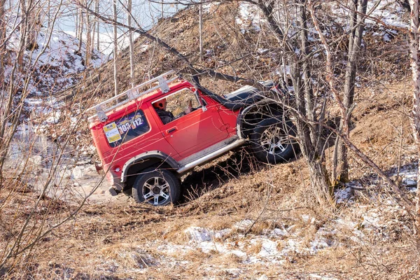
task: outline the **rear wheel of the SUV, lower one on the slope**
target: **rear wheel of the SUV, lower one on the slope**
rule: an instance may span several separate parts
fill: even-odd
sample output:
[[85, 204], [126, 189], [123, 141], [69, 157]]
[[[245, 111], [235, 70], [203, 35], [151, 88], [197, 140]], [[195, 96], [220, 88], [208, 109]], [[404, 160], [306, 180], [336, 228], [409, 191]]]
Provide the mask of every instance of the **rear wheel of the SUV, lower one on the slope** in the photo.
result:
[[165, 169], [149, 169], [134, 181], [132, 195], [137, 202], [163, 206], [179, 200], [180, 186], [172, 172]]

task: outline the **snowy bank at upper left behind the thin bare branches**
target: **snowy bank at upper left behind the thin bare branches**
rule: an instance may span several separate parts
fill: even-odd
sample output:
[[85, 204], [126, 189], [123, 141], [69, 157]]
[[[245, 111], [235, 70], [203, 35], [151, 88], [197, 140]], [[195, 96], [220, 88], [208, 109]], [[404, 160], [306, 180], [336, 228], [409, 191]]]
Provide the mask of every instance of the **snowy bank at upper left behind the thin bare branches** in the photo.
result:
[[[13, 18], [13, 16], [11, 16]], [[11, 69], [15, 64], [15, 54], [19, 50], [20, 30], [13, 29], [13, 20], [9, 19], [7, 29], [9, 40], [6, 48], [10, 51], [10, 59], [6, 62], [6, 79], [10, 78]], [[37, 48], [25, 50], [23, 63], [25, 75], [17, 74], [15, 85], [25, 84], [29, 78], [27, 92], [30, 97], [43, 99], [55, 92], [64, 90], [78, 82], [76, 74], [86, 69], [86, 46], [80, 45], [77, 38], [63, 31], [40, 27], [36, 38]], [[79, 48], [80, 45], [80, 48]], [[107, 57], [97, 50], [92, 50], [90, 67], [97, 68], [106, 62]]]

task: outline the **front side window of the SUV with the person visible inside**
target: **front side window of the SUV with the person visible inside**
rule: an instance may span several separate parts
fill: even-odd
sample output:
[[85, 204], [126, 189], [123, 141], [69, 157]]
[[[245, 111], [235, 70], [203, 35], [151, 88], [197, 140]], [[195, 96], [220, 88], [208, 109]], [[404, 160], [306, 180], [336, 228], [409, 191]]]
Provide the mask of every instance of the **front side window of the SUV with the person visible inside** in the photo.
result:
[[200, 106], [197, 96], [188, 88], [153, 102], [153, 107], [164, 124], [185, 116], [191, 111], [200, 108]]

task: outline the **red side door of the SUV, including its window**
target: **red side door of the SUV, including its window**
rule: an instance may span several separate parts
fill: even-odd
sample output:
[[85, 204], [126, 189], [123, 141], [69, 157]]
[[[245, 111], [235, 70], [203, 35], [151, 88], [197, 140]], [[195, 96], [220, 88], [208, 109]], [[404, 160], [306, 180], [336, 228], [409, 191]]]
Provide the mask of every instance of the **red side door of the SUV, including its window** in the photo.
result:
[[[165, 99], [166, 111], [172, 112], [174, 120], [162, 123], [161, 131], [181, 159], [229, 137], [226, 125], [218, 113], [220, 104], [213, 99], [199, 97], [197, 92], [188, 87], [169, 94]], [[155, 102], [160, 100], [162, 98]], [[183, 113], [188, 103], [192, 103], [193, 111]]]

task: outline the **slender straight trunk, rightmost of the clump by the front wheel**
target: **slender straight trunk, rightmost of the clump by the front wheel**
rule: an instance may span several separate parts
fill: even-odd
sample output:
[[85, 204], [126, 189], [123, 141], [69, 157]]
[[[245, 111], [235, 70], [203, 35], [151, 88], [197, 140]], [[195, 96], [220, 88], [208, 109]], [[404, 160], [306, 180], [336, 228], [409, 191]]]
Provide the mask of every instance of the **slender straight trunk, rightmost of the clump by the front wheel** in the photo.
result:
[[[342, 116], [339, 124], [339, 132], [346, 134], [349, 137], [349, 131], [344, 132], [344, 127], [349, 127], [351, 120], [351, 107], [354, 100], [354, 85], [356, 82], [357, 60], [360, 52], [360, 45], [362, 43], [362, 36], [365, 22], [364, 15], [367, 9], [367, 0], [353, 0], [352, 1], [352, 20], [351, 29], [358, 25], [356, 30], [349, 35], [349, 57], [346, 65], [346, 73], [344, 78], [344, 99], [343, 104], [346, 109], [345, 116]], [[333, 159], [333, 179], [335, 182], [349, 181], [349, 162], [347, 159], [347, 148], [344, 143], [337, 137], [335, 142], [335, 158]]]

